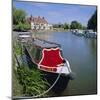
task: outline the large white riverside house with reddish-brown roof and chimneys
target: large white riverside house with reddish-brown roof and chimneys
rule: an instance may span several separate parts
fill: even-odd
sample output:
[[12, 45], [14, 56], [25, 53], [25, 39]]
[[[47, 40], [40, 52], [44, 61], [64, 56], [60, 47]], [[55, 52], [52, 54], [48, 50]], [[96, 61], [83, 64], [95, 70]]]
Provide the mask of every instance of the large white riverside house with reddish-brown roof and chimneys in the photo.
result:
[[50, 30], [53, 27], [44, 17], [33, 17], [31, 15], [27, 20], [31, 24], [32, 30]]

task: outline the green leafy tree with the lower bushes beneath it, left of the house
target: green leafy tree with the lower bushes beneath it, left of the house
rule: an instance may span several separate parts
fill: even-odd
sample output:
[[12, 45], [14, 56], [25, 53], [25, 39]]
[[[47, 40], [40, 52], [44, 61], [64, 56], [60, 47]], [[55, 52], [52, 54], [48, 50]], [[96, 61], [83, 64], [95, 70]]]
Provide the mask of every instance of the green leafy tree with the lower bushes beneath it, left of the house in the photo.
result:
[[31, 25], [26, 21], [26, 12], [13, 7], [13, 30], [27, 31], [31, 29]]

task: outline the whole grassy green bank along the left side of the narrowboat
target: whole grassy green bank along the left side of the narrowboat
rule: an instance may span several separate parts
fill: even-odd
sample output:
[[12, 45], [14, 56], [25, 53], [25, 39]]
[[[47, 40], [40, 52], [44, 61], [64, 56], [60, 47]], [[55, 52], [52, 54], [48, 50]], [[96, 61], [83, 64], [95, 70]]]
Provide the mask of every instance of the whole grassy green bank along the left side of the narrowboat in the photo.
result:
[[[34, 65], [32, 65], [33, 69], [29, 69], [28, 65], [19, 59], [19, 56], [24, 55], [20, 42], [13, 42], [13, 51], [13, 96], [36, 96], [46, 91], [49, 84], [43, 78], [43, 74], [38, 69], [34, 69]], [[45, 96], [47, 94], [42, 97]]]

